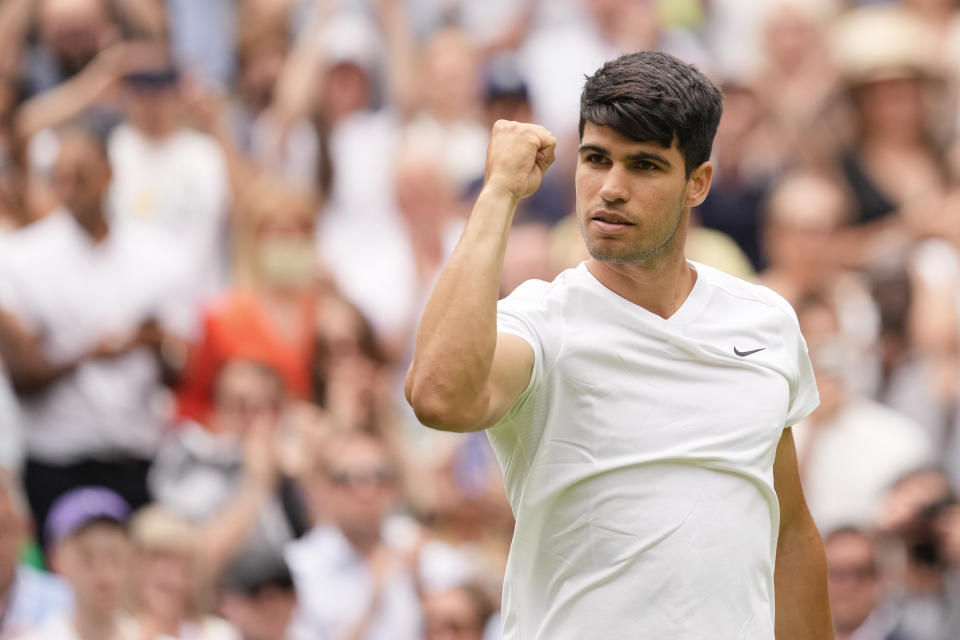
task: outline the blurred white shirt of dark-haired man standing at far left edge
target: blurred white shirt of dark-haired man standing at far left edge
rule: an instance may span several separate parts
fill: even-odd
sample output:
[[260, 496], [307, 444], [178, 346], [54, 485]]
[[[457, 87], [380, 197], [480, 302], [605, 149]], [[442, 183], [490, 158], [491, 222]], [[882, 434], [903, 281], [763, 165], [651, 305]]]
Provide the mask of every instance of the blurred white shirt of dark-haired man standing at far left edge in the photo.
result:
[[[64, 210], [20, 231], [0, 270], [0, 308], [40, 336], [53, 363], [87, 354], [154, 317], [182, 332], [193, 320], [179, 293], [186, 275], [162, 235], [114, 224], [94, 243]], [[28, 457], [151, 457], [163, 427], [160, 369], [147, 348], [86, 360], [42, 393], [20, 399]]]

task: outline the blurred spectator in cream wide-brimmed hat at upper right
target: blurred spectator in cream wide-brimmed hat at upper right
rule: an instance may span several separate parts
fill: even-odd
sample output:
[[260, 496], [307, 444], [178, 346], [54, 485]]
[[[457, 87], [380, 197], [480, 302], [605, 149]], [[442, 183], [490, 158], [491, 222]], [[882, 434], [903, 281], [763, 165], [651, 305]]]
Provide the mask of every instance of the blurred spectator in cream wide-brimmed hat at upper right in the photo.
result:
[[[837, 57], [855, 115], [855, 137], [842, 150], [843, 175], [854, 194], [855, 224], [895, 224], [942, 195], [944, 141], [930, 111], [934, 68], [923, 23], [899, 7], [863, 7], [837, 25]], [[878, 47], [878, 42], [886, 46]], [[869, 251], [875, 233], [864, 230], [854, 251]], [[848, 251], [851, 249], [848, 249]]]

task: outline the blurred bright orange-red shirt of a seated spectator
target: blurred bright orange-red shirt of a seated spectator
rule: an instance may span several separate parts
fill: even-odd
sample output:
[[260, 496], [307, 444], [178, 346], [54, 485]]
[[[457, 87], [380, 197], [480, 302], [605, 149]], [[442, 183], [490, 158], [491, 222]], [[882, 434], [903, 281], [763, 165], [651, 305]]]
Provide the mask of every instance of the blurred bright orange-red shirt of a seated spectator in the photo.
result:
[[274, 369], [287, 392], [300, 398], [311, 393], [315, 337], [314, 299], [300, 301], [294, 335], [283, 335], [261, 302], [249, 291], [234, 290], [207, 310], [203, 336], [190, 351], [177, 389], [181, 417], [206, 423], [213, 405], [213, 382], [227, 361], [253, 360]]

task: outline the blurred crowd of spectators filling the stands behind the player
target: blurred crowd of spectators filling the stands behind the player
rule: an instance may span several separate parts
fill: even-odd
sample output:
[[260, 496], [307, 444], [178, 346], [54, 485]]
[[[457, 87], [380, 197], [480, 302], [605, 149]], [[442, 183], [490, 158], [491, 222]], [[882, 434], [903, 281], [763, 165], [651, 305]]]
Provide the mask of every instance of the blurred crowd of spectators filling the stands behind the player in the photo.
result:
[[496, 460], [403, 375], [495, 120], [560, 141], [503, 293], [585, 258], [640, 49], [725, 94], [688, 256], [800, 318], [837, 638], [960, 637], [960, 2], [0, 0], [0, 639], [499, 637]]

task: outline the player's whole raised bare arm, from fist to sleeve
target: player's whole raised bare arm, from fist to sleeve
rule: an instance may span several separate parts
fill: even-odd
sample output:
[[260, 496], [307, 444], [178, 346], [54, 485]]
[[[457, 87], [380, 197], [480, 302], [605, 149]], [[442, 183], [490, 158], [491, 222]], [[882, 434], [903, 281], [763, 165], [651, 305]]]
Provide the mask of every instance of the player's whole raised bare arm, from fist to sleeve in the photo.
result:
[[485, 429], [530, 380], [533, 350], [497, 334], [497, 297], [517, 202], [540, 186], [556, 143], [537, 125], [501, 120], [493, 127], [483, 189], [427, 302], [407, 372], [407, 400], [429, 427]]

